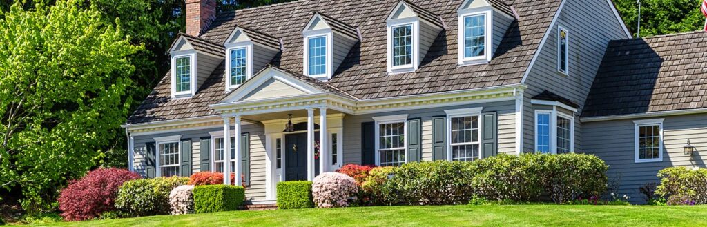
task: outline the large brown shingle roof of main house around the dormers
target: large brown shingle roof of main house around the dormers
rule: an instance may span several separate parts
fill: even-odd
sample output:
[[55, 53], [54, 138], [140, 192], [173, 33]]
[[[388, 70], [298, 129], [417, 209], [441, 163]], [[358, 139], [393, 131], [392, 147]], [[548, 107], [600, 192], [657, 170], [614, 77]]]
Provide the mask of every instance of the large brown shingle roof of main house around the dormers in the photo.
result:
[[[489, 64], [462, 67], [457, 66], [457, 8], [462, 0], [411, 2], [411, 7], [423, 8], [447, 22], [419, 69], [412, 73], [386, 73], [385, 21], [397, 0], [296, 1], [219, 13], [200, 38], [223, 43], [236, 25], [280, 37], [284, 50], [271, 64], [302, 74], [302, 28], [316, 11], [358, 28], [363, 37], [327, 82], [330, 86], [358, 99], [431, 94], [520, 83], [561, 0], [504, 1], [514, 6], [520, 19], [510, 25]], [[128, 124], [215, 115], [209, 105], [226, 95], [223, 68], [222, 62], [194, 97], [180, 100], [170, 99], [168, 73], [129, 117]]]

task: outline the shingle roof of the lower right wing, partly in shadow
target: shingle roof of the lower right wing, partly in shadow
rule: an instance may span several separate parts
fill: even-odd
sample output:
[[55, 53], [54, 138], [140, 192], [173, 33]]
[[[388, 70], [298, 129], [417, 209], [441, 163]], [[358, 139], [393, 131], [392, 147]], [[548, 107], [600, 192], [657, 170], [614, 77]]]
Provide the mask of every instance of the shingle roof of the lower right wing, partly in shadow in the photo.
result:
[[707, 108], [707, 33], [609, 42], [582, 117]]

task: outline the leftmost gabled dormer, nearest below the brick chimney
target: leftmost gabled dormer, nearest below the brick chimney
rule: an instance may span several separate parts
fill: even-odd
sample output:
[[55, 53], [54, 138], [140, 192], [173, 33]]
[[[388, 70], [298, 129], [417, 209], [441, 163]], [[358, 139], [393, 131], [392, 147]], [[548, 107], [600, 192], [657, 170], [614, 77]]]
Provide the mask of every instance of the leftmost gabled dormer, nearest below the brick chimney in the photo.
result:
[[191, 98], [223, 61], [223, 47], [180, 33], [170, 47], [172, 98]]

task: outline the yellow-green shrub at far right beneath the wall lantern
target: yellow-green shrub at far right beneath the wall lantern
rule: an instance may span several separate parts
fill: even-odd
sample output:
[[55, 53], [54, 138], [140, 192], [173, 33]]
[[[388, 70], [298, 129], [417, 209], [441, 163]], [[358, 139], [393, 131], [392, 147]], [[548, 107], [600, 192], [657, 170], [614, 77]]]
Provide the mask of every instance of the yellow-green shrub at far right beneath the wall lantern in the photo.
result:
[[707, 169], [671, 167], [658, 172], [660, 185], [655, 190], [655, 194], [662, 197], [675, 196], [672, 202], [679, 201], [679, 198], [689, 198], [695, 204], [707, 204]]

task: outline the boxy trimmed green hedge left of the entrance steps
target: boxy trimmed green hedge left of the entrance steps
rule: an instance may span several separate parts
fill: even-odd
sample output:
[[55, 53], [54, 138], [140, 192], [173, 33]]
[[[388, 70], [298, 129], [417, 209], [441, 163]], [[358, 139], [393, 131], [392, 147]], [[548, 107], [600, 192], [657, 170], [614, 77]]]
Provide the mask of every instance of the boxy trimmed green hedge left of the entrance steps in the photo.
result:
[[193, 192], [197, 214], [235, 211], [245, 200], [245, 189], [234, 185], [199, 185]]

